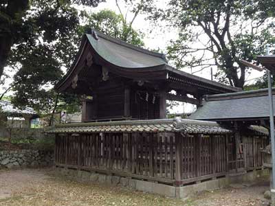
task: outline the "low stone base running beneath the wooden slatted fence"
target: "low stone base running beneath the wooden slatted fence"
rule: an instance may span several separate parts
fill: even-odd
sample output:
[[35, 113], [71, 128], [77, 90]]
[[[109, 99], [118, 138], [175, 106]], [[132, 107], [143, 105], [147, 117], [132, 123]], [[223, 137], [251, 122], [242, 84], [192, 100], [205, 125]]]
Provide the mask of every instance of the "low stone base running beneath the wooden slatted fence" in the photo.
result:
[[204, 190], [218, 190], [224, 187], [228, 187], [231, 183], [247, 183], [256, 181], [261, 176], [266, 176], [267, 179], [269, 177], [269, 170], [254, 170], [252, 172], [247, 172], [244, 174], [234, 176], [228, 175], [223, 178], [204, 181], [202, 183], [197, 183], [194, 185], [175, 187], [171, 185], [164, 185], [162, 183], [142, 181], [121, 176], [98, 174], [82, 170], [68, 170], [65, 168], [56, 168], [56, 171], [58, 171], [62, 175], [69, 176], [70, 178], [76, 181], [99, 182], [107, 183], [110, 185], [119, 185], [123, 187], [128, 187], [131, 190], [150, 192], [154, 194], [160, 194], [163, 196], [169, 196], [172, 198], [186, 198], [188, 196], [194, 195], [195, 193], [202, 192]]

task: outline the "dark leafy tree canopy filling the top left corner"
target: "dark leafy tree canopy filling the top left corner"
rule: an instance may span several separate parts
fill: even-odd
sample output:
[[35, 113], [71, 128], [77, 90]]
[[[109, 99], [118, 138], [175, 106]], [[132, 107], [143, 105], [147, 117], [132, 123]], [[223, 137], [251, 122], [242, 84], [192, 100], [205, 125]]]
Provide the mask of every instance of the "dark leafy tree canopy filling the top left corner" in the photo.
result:
[[0, 2], [0, 78], [12, 47], [53, 42], [78, 23], [72, 4], [97, 6], [104, 0], [2, 0]]

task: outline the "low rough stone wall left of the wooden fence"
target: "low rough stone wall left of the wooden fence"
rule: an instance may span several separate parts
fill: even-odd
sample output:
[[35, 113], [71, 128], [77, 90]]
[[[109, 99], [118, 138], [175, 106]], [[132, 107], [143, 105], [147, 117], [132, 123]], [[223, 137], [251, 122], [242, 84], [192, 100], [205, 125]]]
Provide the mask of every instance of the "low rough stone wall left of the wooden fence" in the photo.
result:
[[54, 164], [53, 150], [2, 150], [0, 167], [25, 168], [42, 167]]

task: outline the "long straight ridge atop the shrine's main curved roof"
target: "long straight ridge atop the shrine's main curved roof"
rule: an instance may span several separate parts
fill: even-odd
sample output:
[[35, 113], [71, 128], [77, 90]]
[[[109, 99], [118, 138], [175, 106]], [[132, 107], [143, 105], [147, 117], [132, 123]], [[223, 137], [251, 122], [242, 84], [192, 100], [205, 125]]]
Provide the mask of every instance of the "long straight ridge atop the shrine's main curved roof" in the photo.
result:
[[[89, 33], [87, 33], [87, 34], [89, 34]], [[108, 41], [111, 41], [111, 42], [116, 43], [118, 45], [122, 45], [122, 46], [128, 47], [130, 49], [134, 49], [137, 52], [142, 52], [142, 53], [145, 53], [145, 54], [148, 54], [148, 55], [151, 55], [151, 56], [156, 56], [156, 57], [162, 58], [165, 62], [167, 62], [166, 56], [163, 53], [152, 52], [148, 49], [144, 49], [144, 48], [138, 47], [136, 45], [131, 45], [130, 43], [126, 43], [125, 41], [122, 41], [119, 38], [113, 38], [113, 37], [111, 37], [107, 34], [99, 32], [98, 30], [96, 30], [94, 28], [91, 28], [91, 34], [90, 35], [93, 36], [93, 38], [97, 38], [96, 36], [100, 36], [101, 38], [107, 39]]]

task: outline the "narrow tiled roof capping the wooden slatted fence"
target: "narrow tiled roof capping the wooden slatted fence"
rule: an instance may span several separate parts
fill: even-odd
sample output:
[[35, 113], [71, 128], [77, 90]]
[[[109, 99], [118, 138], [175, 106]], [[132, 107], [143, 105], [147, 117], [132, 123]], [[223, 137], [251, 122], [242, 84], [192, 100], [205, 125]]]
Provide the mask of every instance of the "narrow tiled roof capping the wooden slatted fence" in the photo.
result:
[[190, 119], [152, 119], [119, 122], [89, 122], [81, 124], [61, 124], [48, 128], [46, 133], [157, 133], [181, 132], [221, 134], [232, 133], [216, 122], [198, 121]]

